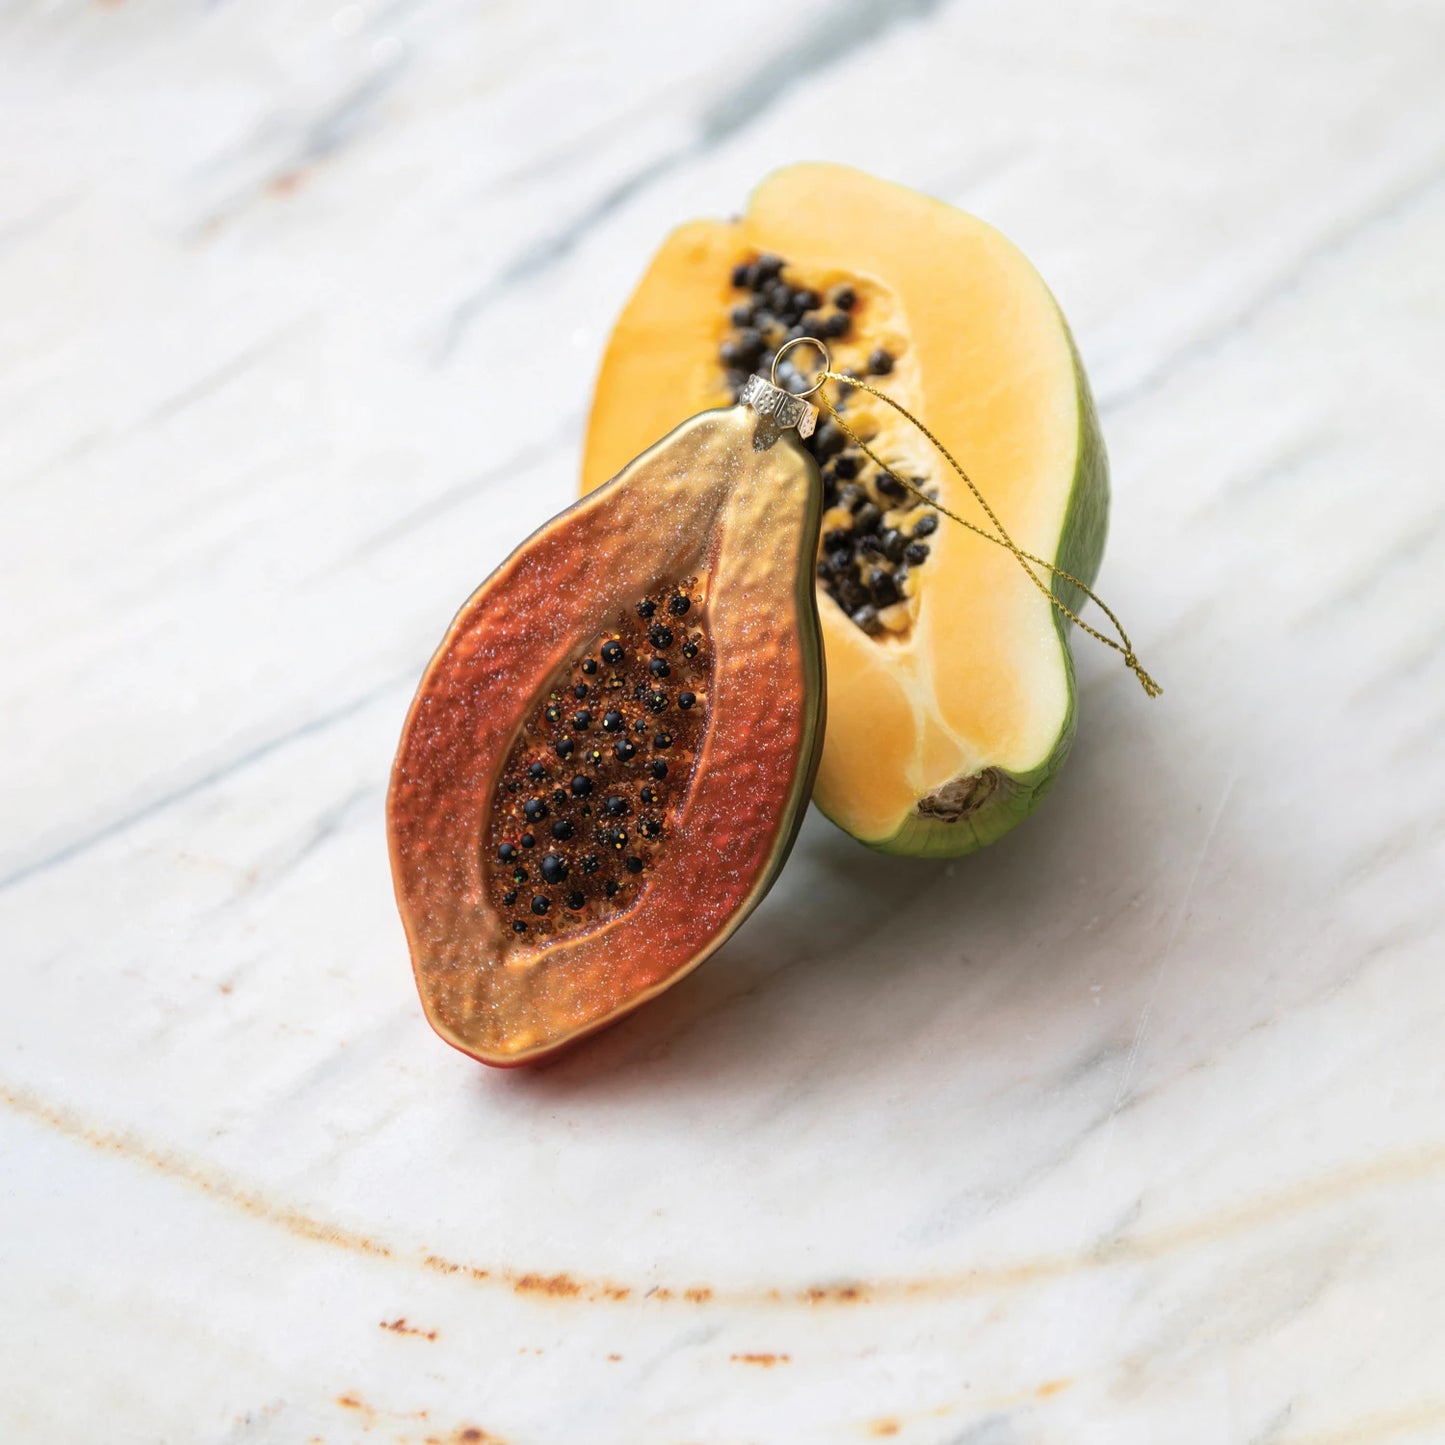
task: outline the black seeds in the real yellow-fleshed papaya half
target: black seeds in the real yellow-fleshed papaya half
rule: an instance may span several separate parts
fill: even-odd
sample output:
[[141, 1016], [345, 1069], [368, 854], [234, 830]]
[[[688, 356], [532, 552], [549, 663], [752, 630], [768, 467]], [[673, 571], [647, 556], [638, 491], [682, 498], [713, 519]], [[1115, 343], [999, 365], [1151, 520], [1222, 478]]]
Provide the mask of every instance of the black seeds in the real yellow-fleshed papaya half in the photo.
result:
[[[827, 295], [802, 285], [789, 275], [779, 256], [762, 254], [740, 262], [731, 275], [736, 301], [728, 312], [728, 328], [718, 353], [734, 400], [753, 373], [769, 374], [777, 350], [799, 337], [827, 341], [855, 350], [868, 376], [884, 377], [893, 371], [894, 357], [866, 340], [867, 305], [858, 288], [834, 286]], [[808, 379], [793, 366], [816, 361], [806, 347], [783, 357], [777, 380], [801, 392]], [[847, 370], [861, 376], [861, 370]], [[847, 393], [838, 397], [847, 407]], [[887, 473], [880, 471], [834, 423], [824, 422], [803, 445], [812, 452], [822, 473], [824, 514], [818, 545], [818, 581], [824, 590], [864, 631], [900, 631], [907, 626], [902, 608], [889, 611], [910, 595], [909, 577], [928, 559], [923, 539], [938, 526], [938, 514]], [[909, 478], [929, 497], [938, 488], [926, 478]]]

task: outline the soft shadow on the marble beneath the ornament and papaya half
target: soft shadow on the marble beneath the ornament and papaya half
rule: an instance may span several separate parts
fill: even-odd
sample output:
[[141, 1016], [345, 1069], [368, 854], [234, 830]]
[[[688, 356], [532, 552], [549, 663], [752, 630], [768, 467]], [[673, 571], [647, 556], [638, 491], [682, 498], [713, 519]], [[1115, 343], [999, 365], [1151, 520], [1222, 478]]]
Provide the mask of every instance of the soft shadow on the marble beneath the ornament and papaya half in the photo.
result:
[[[1127, 1036], [1061, 1059], [1046, 1025], [1091, 987], [1130, 990], [1159, 967], [1204, 792], [1168, 714], [1126, 691], [1108, 692], [1039, 814], [972, 857], [883, 857], [809, 814], [779, 886], [715, 958], [555, 1064], [484, 1071], [478, 1098], [627, 1107], [659, 1090], [746, 1094], [776, 1082], [779, 1055], [809, 1085], [863, 1068], [887, 1075], [959, 994], [977, 1001], [980, 1025], [990, 1012], [1006, 1019], [994, 1046], [1030, 1072], [1124, 1049]], [[1182, 762], [1160, 766], [1168, 756]]]

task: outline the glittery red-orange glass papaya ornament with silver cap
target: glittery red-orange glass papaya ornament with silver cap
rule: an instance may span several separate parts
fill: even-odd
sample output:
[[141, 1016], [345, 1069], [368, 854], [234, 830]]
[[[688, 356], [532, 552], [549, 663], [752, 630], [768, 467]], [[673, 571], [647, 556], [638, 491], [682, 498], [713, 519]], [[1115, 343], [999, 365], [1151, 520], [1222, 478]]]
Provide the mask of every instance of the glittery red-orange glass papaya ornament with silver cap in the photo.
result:
[[387, 796], [428, 1022], [543, 1059], [712, 954], [824, 731], [808, 402], [751, 379], [523, 542], [422, 676]]

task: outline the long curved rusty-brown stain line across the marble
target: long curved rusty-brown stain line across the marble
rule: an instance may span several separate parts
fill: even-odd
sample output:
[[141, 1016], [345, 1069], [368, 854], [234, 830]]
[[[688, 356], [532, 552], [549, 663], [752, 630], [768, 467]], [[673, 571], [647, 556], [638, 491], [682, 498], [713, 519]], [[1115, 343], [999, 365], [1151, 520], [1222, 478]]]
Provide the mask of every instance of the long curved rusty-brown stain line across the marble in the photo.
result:
[[500, 1286], [523, 1298], [584, 1303], [623, 1303], [636, 1296], [640, 1300], [659, 1305], [676, 1302], [749, 1308], [764, 1305], [835, 1306], [902, 1303], [929, 1298], [967, 1298], [1026, 1289], [1072, 1274], [1147, 1263], [1162, 1256], [1204, 1248], [1222, 1240], [1248, 1234], [1253, 1230], [1267, 1228], [1295, 1215], [1315, 1212], [1360, 1194], [1412, 1183], [1445, 1170], [1445, 1144], [1422, 1146], [1409, 1152], [1386, 1155], [1367, 1163], [1335, 1169], [1277, 1194], [1257, 1196], [1234, 1208], [1218, 1209], [1199, 1220], [1126, 1235], [1095, 1250], [1042, 1254], [1006, 1264], [981, 1264], [913, 1279], [850, 1280], [835, 1285], [770, 1289], [655, 1285], [650, 1289], [639, 1290], [634, 1286], [603, 1277], [584, 1279], [566, 1273], [549, 1274], [539, 1270], [483, 1267], [452, 1260], [435, 1251], [393, 1246], [363, 1230], [319, 1220], [301, 1208], [267, 1198], [212, 1165], [188, 1159], [176, 1150], [158, 1147], [126, 1130], [92, 1124], [74, 1110], [46, 1103], [30, 1090], [0, 1084], [0, 1105], [98, 1153], [113, 1155], [150, 1169], [163, 1178], [185, 1183], [251, 1218], [285, 1230], [296, 1238], [350, 1250], [371, 1259], [393, 1260], [412, 1269], [455, 1276], [475, 1285]]

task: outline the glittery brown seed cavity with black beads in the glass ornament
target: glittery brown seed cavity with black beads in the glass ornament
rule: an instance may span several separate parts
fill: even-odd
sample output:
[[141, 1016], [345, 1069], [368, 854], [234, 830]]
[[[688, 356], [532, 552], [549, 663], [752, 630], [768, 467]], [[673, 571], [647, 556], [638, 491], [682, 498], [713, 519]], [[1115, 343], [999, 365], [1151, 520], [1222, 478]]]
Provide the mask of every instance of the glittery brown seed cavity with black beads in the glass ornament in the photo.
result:
[[484, 829], [513, 933], [552, 941], [636, 903], [702, 746], [709, 670], [702, 594], [682, 578], [621, 608], [538, 701]]

